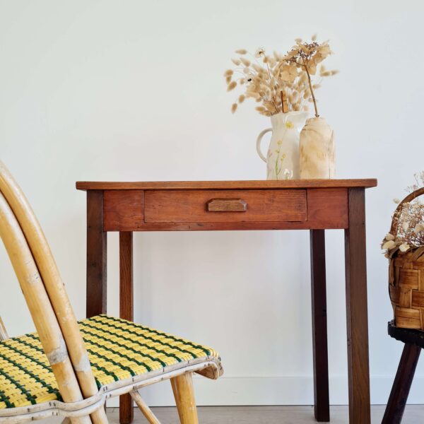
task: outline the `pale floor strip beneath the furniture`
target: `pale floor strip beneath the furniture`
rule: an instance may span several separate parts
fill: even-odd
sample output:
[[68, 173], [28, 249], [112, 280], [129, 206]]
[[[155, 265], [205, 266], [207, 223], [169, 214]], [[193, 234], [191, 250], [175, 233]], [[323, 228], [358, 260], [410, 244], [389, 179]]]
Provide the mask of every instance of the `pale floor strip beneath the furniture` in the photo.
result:
[[[381, 423], [384, 405], [372, 406], [372, 424]], [[152, 408], [161, 424], [179, 424], [175, 408]], [[201, 424], [307, 424], [316, 423], [312, 406], [201, 406]], [[348, 424], [348, 407], [331, 406], [331, 423]], [[108, 408], [110, 424], [119, 423], [119, 408]], [[51, 423], [42, 420], [39, 423]], [[134, 424], [146, 424], [147, 420], [140, 411], [134, 410]], [[406, 407], [402, 424], [424, 423], [424, 405]]]

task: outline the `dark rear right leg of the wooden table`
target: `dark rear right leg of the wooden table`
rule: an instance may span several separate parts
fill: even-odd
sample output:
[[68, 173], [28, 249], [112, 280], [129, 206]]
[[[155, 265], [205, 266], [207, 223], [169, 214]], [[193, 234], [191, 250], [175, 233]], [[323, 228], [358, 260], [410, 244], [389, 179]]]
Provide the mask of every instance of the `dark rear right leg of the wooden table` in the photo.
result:
[[325, 232], [310, 231], [312, 343], [314, 349], [314, 413], [317, 421], [330, 420], [329, 359], [326, 325]]

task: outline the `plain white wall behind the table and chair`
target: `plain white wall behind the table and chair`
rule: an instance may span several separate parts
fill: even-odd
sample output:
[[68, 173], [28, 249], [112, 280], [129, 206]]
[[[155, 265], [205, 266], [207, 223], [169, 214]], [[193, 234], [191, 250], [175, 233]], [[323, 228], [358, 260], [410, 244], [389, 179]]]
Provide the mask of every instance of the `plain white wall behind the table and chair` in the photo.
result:
[[[344, 4], [343, 4], [344, 3]], [[372, 401], [387, 400], [401, 343], [379, 241], [391, 199], [423, 168], [421, 1], [0, 1], [0, 147], [52, 244], [76, 314], [85, 313], [86, 197], [76, 180], [262, 179], [254, 141], [268, 119], [230, 114], [232, 51], [285, 51], [329, 38], [320, 111], [337, 135], [338, 175], [367, 192]], [[329, 231], [331, 402], [347, 401], [343, 233]], [[109, 236], [117, 314], [117, 235]], [[311, 404], [307, 232], [173, 232], [135, 237], [136, 321], [209, 343], [225, 377], [198, 380], [200, 404]], [[33, 329], [4, 249], [0, 312]], [[424, 365], [411, 392], [422, 402]], [[170, 402], [166, 387], [152, 404]]]

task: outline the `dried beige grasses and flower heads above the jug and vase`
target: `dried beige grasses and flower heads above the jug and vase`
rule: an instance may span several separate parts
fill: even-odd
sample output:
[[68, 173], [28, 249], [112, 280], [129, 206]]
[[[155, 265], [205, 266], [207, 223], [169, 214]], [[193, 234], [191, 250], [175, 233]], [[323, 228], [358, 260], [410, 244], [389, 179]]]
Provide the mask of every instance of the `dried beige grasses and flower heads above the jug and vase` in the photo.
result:
[[[281, 112], [309, 110], [309, 103], [314, 104], [315, 116], [319, 116], [314, 90], [320, 84], [313, 83], [311, 76], [317, 74], [318, 65], [331, 54], [331, 49], [328, 42], [318, 43], [316, 36], [312, 37], [312, 42], [300, 39], [295, 42], [285, 55], [273, 52], [271, 56], [264, 49], [258, 49], [248, 59], [247, 50], [236, 50], [238, 57], [232, 59], [236, 68], [225, 71], [225, 81], [228, 91], [240, 86], [245, 88], [245, 93], [232, 104], [233, 113], [246, 98], [253, 98], [261, 103], [257, 111], [267, 117]], [[319, 76], [322, 78], [335, 73], [337, 71], [327, 71], [320, 66]]]

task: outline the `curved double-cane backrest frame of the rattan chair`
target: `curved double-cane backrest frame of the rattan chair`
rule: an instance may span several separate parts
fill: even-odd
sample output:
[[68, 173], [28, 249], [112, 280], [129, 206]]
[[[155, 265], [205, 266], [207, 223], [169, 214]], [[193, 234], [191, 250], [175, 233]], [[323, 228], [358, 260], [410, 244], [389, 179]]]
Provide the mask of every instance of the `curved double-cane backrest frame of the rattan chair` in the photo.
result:
[[[52, 365], [61, 396], [67, 402], [81, 400], [81, 396], [93, 396], [98, 388], [56, 262], [30, 204], [1, 162], [0, 236]], [[91, 416], [94, 423], [105, 422], [102, 411]]]

